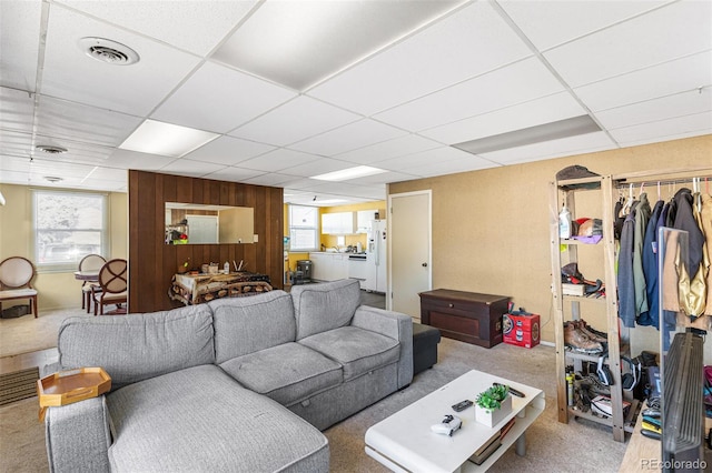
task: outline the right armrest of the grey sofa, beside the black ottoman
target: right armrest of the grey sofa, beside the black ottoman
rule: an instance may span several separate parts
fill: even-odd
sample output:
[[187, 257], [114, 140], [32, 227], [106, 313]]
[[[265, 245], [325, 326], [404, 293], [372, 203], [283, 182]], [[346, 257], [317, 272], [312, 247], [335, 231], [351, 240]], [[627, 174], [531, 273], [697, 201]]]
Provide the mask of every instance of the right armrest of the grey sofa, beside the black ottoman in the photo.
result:
[[400, 343], [398, 389], [413, 381], [413, 319], [400, 312], [360, 305], [354, 313], [353, 326], [389, 336]]

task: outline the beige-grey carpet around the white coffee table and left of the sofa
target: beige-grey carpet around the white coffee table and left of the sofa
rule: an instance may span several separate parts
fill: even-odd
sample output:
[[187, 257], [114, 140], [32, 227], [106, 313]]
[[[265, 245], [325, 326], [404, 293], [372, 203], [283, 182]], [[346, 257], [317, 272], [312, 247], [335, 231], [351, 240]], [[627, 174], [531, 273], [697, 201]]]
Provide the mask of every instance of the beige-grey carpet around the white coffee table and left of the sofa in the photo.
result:
[[[334, 472], [385, 472], [364, 452], [366, 430], [469, 370], [479, 370], [536, 386], [546, 393], [546, 410], [527, 431], [526, 456], [511, 447], [493, 472], [617, 472], [626, 444], [587, 421], [557, 422], [554, 349], [493, 349], [443, 339], [438, 364], [418, 374], [411, 386], [328, 429]], [[473, 393], [474, 394], [474, 393]], [[37, 421], [37, 397], [0, 407], [0, 472], [46, 472], [44, 432]], [[464, 411], [467, 415], [469, 410]], [[407, 432], [403, 433], [407, 435]]]

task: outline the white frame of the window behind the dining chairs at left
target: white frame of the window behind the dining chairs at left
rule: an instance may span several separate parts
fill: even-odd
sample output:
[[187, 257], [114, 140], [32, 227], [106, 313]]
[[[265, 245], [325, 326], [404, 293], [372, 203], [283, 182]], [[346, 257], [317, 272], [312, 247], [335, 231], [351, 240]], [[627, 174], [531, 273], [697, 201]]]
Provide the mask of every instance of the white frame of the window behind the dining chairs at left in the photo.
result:
[[66, 190], [53, 190], [53, 189], [32, 189], [32, 259], [34, 261], [34, 266], [38, 272], [68, 272], [68, 271], [77, 271], [79, 268], [78, 261], [71, 262], [41, 262], [40, 261], [40, 248], [38, 243], [38, 231], [47, 230], [47, 229], [38, 229], [37, 219], [38, 219], [38, 197], [40, 195], [81, 195], [81, 197], [99, 197], [101, 198], [101, 228], [100, 229], [81, 229], [81, 230], [90, 230], [90, 231], [100, 231], [101, 232], [101, 249], [99, 254], [108, 260], [108, 255], [111, 254], [110, 244], [110, 235], [109, 235], [109, 195], [102, 192], [83, 192], [83, 191], [66, 191]]

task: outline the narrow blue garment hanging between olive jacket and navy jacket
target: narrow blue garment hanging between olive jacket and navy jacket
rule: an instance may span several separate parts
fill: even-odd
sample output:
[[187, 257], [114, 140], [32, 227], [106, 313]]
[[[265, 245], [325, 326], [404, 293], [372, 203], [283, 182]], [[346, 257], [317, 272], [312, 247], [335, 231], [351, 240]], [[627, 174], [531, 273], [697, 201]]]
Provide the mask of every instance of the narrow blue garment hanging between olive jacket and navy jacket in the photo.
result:
[[647, 294], [647, 312], [637, 318], [639, 325], [660, 328], [660, 295], [657, 294], [657, 229], [665, 203], [655, 202], [655, 207], [647, 221], [645, 239], [643, 240], [643, 274], [645, 275], [645, 292]]

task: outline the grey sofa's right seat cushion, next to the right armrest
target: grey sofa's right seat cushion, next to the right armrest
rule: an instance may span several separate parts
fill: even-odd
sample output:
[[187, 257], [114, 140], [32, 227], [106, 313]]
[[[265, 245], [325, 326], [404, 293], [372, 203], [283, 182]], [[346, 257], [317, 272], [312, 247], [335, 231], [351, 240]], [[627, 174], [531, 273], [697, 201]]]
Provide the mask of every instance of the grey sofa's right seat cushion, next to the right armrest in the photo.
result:
[[398, 361], [397, 340], [359, 329], [343, 326], [299, 340], [344, 366], [344, 381]]

